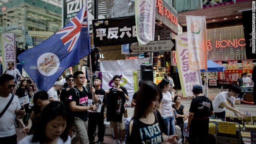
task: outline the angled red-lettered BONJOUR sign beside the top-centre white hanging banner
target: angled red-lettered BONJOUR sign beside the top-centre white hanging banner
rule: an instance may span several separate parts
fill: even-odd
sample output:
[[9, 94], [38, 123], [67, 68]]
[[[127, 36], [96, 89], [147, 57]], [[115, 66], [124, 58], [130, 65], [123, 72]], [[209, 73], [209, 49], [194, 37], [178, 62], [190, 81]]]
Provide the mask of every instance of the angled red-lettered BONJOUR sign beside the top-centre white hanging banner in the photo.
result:
[[178, 34], [178, 14], [165, 0], [156, 0], [156, 20]]

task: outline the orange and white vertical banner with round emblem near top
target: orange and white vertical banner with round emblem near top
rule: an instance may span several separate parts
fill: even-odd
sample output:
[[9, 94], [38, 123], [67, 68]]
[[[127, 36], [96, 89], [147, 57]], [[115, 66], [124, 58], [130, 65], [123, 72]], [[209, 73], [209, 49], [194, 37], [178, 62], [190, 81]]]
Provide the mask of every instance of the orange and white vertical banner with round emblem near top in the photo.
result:
[[207, 69], [206, 21], [204, 16], [186, 16], [190, 70]]

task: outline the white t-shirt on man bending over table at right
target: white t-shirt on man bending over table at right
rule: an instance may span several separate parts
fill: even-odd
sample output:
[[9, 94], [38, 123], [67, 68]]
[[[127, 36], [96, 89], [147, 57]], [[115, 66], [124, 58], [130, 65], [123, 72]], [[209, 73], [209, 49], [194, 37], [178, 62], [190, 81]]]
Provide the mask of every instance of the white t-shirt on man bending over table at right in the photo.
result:
[[235, 104], [235, 97], [228, 97], [228, 92], [219, 93], [212, 102], [214, 112], [223, 112], [225, 110], [223, 102], [228, 102], [228, 104]]

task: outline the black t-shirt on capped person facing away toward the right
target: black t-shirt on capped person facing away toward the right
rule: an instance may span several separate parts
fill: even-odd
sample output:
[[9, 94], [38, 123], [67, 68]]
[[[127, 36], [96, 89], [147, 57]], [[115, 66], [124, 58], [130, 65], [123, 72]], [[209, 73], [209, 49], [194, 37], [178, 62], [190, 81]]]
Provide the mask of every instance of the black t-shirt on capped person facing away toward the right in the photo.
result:
[[193, 118], [209, 117], [210, 111], [213, 111], [212, 101], [205, 96], [198, 96], [192, 100], [189, 111], [194, 112]]

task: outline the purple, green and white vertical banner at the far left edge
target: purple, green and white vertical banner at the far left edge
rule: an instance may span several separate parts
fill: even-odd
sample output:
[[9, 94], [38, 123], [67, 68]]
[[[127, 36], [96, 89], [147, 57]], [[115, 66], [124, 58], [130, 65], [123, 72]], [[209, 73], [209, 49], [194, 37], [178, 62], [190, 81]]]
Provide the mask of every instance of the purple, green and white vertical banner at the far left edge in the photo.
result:
[[8, 62], [13, 62], [16, 67], [16, 47], [15, 47], [15, 33], [1, 34], [2, 44], [2, 64], [3, 72], [7, 67]]

